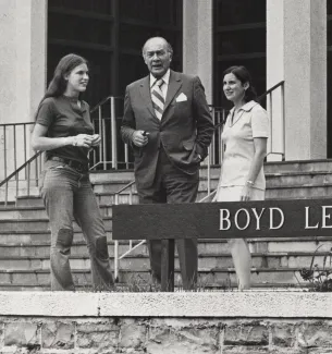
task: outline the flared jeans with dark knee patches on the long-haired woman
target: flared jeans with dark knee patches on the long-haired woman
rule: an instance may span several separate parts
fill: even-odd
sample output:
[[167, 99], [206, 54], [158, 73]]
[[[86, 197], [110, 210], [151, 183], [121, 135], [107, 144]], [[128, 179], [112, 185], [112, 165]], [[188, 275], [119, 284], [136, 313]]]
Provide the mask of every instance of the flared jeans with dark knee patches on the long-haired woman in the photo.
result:
[[94, 289], [112, 289], [103, 220], [88, 173], [79, 173], [63, 162], [49, 160], [45, 163], [42, 180], [40, 192], [51, 228], [51, 290], [75, 290], [69, 259], [74, 219], [87, 243]]

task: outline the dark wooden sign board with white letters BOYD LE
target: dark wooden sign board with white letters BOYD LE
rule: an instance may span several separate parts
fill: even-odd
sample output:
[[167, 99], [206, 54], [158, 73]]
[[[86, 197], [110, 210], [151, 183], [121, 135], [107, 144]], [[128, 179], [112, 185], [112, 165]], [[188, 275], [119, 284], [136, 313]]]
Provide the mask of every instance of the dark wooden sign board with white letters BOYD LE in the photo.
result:
[[113, 207], [114, 240], [332, 236], [332, 199]]

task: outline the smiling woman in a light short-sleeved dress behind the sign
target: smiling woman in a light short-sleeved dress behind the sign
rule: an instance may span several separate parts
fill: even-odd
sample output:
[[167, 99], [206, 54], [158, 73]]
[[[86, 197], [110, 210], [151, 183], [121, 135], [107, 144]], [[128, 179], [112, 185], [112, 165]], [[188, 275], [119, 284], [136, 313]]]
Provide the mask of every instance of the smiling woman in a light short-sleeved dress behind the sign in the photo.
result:
[[[234, 107], [230, 111], [222, 142], [224, 158], [214, 202], [263, 200], [269, 119], [256, 101], [249, 72], [231, 66], [224, 72], [223, 91]], [[250, 288], [251, 256], [246, 240], [229, 241], [237, 276], [238, 290]]]

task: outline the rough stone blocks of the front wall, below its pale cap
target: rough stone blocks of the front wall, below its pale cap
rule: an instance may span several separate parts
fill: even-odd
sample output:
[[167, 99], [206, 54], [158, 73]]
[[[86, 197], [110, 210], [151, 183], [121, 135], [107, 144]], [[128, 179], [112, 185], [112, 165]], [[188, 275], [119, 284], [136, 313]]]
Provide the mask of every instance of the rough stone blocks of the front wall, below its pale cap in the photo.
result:
[[4, 316], [0, 353], [323, 354], [332, 320]]

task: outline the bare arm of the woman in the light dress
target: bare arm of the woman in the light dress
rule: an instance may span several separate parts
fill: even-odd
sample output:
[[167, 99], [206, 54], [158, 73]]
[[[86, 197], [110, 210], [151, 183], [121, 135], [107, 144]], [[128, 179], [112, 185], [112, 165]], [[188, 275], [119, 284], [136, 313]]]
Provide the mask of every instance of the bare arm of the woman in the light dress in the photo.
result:
[[267, 145], [268, 145], [268, 138], [267, 137], [254, 137], [254, 146], [255, 146], [255, 154], [254, 159], [249, 169], [249, 173], [247, 175], [247, 180], [249, 183], [247, 183], [244, 186], [243, 194], [241, 197], [241, 200], [249, 200], [250, 198], [250, 190], [253, 185], [250, 185], [250, 182], [256, 181], [257, 175], [262, 168], [265, 157], [267, 156]]

